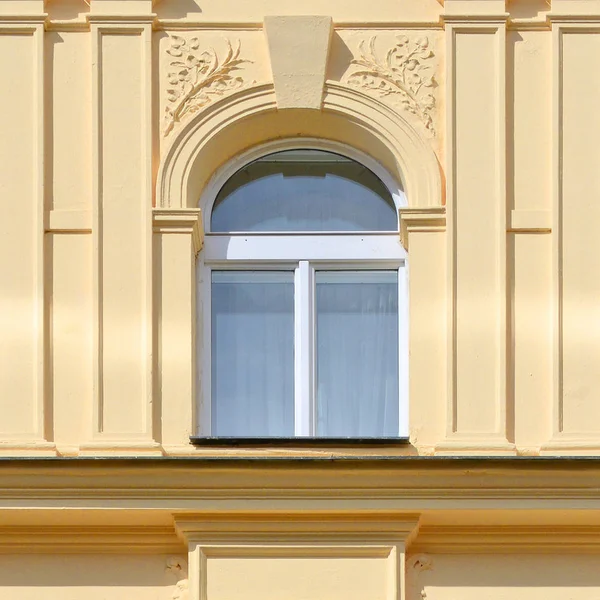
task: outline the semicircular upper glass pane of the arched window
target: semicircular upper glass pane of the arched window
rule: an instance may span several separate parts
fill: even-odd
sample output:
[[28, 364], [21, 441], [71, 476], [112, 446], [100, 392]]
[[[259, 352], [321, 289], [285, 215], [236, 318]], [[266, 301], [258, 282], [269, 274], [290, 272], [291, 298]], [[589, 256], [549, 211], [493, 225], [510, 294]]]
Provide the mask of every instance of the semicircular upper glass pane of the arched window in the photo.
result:
[[396, 231], [389, 190], [356, 161], [289, 150], [239, 170], [219, 192], [211, 231]]

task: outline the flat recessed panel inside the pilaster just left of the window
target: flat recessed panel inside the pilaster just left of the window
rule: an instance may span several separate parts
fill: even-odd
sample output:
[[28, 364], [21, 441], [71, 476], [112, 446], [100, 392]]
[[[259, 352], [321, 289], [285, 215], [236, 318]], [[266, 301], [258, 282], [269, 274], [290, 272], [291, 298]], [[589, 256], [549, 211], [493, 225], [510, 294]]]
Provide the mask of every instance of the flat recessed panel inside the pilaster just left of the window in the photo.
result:
[[145, 165], [143, 41], [139, 31], [100, 35], [99, 430], [143, 434], [145, 373]]

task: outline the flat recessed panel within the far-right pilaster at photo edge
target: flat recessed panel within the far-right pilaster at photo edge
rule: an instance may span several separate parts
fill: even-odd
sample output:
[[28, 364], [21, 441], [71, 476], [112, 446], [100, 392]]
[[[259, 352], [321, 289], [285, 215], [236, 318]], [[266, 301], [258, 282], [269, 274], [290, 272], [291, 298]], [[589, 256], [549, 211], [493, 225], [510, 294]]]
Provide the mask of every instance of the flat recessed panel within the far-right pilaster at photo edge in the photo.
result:
[[562, 35], [562, 433], [600, 435], [600, 34]]

